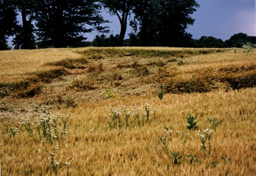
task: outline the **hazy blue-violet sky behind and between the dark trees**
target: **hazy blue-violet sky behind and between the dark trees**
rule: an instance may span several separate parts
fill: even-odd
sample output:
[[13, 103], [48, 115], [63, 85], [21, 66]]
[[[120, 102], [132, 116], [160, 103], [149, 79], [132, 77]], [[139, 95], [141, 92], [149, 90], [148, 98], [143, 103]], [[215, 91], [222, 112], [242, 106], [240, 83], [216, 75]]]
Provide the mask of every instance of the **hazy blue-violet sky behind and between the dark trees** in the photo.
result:
[[[256, 36], [256, 0], [197, 0], [197, 2], [200, 7], [191, 15], [195, 23], [187, 29], [187, 32], [193, 35], [192, 38], [213, 36], [227, 40], [239, 32]], [[102, 14], [105, 19], [112, 21], [109, 27], [113, 34], [119, 34], [118, 18], [111, 17], [106, 12]], [[130, 27], [127, 28], [126, 38], [128, 33], [131, 33]], [[92, 32], [86, 36], [88, 40], [93, 40], [97, 34]]]

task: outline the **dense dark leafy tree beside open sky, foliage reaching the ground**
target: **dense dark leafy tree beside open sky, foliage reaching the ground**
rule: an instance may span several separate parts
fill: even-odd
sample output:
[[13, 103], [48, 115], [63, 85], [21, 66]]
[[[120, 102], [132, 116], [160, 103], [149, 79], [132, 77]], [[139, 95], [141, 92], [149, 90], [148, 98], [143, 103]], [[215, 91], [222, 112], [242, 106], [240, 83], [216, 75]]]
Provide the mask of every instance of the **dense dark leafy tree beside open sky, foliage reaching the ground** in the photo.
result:
[[191, 34], [186, 33], [193, 25], [191, 14], [199, 7], [195, 0], [141, 1], [135, 8], [139, 20], [139, 37], [144, 44], [160, 46], [189, 46]]

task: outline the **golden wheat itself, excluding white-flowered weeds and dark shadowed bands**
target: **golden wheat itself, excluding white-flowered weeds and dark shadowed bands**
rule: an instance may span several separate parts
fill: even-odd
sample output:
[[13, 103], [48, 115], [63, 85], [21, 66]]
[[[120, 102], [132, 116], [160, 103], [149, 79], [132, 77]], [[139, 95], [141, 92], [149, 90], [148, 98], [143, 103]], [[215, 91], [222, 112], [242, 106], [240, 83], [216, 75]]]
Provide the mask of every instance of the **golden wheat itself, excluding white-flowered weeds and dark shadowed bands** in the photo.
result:
[[[66, 76], [55, 78], [50, 83], [42, 82], [41, 93], [32, 98], [16, 99], [10, 95], [0, 100], [2, 175], [245, 176], [255, 174], [255, 87], [231, 90], [220, 85], [220, 89], [204, 93], [164, 93], [162, 100], [157, 97], [157, 87], [161, 83], [167, 83], [167, 77], [177, 78], [176, 81], [181, 83], [182, 80], [191, 79], [193, 75], [209, 76], [209, 79], [213, 79], [213, 76], [222, 76], [218, 79], [224, 79], [231, 73], [236, 76], [247, 74], [248, 71], [253, 72], [256, 65], [255, 54], [229, 51], [189, 55], [184, 57], [198, 60], [198, 63], [177, 66], [177, 62], [183, 58], [166, 53], [164, 56], [157, 56], [155, 53], [146, 55], [145, 50], [152, 52], [152, 50], [180, 51], [185, 49], [132, 47], [9, 51], [9, 55], [12, 52], [16, 54], [24, 52], [24, 55], [27, 54], [26, 57], [31, 60], [34, 60], [32, 59], [34, 57], [30, 57], [33, 51], [45, 52], [38, 55], [45, 58], [41, 63], [35, 63], [38, 66], [33, 68], [33, 65], [27, 65], [35, 69], [33, 73], [45, 67], [55, 69], [56, 66], [52, 64], [55, 61], [83, 58], [82, 53], [86, 52], [85, 56], [88, 57], [89, 63], [83, 64], [84, 68], [65, 68], [68, 73]], [[131, 56], [131, 53], [136, 52], [139, 54]], [[3, 55], [3, 53], [0, 54]], [[55, 59], [47, 59], [48, 57], [45, 56], [54, 53]], [[140, 54], [144, 54], [143, 57], [140, 57]], [[177, 58], [177, 62], [168, 62], [174, 57]], [[161, 66], [159, 61], [162, 61], [164, 66]], [[47, 66], [50, 62], [52, 65]], [[7, 68], [2, 65], [1, 67]], [[11, 72], [9, 73], [13, 76]], [[15, 72], [17, 75], [27, 74], [22, 67], [20, 70], [17, 68]], [[95, 86], [95, 88], [91, 89], [90, 86]], [[112, 87], [119, 98], [107, 99], [107, 87]], [[76, 108], [70, 106], [66, 108], [68, 101], [71, 101], [68, 97], [75, 99]], [[59, 149], [55, 155], [55, 160], [59, 163], [57, 173], [47, 171], [50, 157], [42, 142], [36, 136], [29, 137], [27, 131], [19, 125], [20, 118], [23, 116], [30, 116], [31, 119], [38, 116], [30, 108], [34, 103], [38, 103], [38, 106], [47, 103], [48, 110], [55, 114], [68, 114], [69, 112], [72, 114], [68, 121], [67, 139], [61, 139], [58, 143]], [[104, 116], [108, 105], [120, 107], [125, 104], [128, 109], [137, 106], [140, 107], [140, 115], [142, 115], [145, 111], [143, 110], [145, 103], [158, 109], [155, 119], [150, 119], [149, 123], [144, 126], [133, 125], [127, 129], [123, 126], [120, 130], [109, 130]], [[14, 105], [14, 111], [9, 104]], [[201, 150], [197, 130], [186, 129], [188, 124], [185, 116], [188, 116], [188, 113], [198, 116], [195, 121], [201, 132], [205, 129], [214, 130], [211, 154], [205, 155]], [[209, 123], [208, 119], [211, 118], [216, 118], [216, 126]], [[11, 126], [19, 128], [19, 132], [14, 137], [10, 137]], [[167, 141], [168, 149], [171, 152], [179, 151], [179, 156], [183, 156], [177, 165], [174, 165], [172, 159], [164, 153], [157, 155], [150, 143], [151, 139], [156, 139], [154, 129], [158, 129], [158, 132], [163, 135], [164, 126], [173, 127], [173, 132]], [[190, 138], [184, 148], [181, 143], [183, 130], [190, 133]], [[36, 133], [35, 130], [34, 133]], [[50, 149], [53, 145], [54, 143], [48, 143], [48, 148]], [[34, 147], [38, 151], [35, 151]], [[196, 155], [193, 162], [187, 157], [190, 154]], [[225, 162], [221, 157], [226, 157]], [[67, 169], [65, 163], [71, 161], [72, 158], [74, 161]]]

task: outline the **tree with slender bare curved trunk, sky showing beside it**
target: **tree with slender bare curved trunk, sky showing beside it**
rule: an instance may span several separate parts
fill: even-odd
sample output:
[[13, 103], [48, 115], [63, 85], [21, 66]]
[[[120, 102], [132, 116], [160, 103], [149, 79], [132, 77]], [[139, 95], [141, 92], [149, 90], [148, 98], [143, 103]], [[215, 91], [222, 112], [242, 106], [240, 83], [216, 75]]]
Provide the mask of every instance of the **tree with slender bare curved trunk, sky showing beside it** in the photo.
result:
[[[127, 29], [127, 20], [132, 14], [137, 0], [99, 0], [99, 2], [99, 5], [103, 5], [105, 9], [109, 10], [110, 15], [116, 15], [118, 17], [121, 26], [119, 37], [116, 38], [113, 35], [110, 37], [116, 43], [116, 46], [122, 46]], [[133, 20], [131, 21], [133, 23]]]

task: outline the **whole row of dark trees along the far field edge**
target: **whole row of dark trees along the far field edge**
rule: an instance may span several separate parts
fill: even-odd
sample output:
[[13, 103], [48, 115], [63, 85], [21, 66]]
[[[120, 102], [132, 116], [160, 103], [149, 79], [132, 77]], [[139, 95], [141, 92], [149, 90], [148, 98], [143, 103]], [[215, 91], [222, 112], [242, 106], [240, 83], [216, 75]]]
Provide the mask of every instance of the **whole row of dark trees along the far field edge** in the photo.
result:
[[[0, 50], [8, 50], [9, 37], [14, 49], [65, 48], [83, 46], [172, 46], [232, 47], [255, 37], [236, 34], [223, 42], [214, 37], [193, 40], [186, 32], [195, 19], [191, 14], [199, 4], [195, 0], [0, 0]], [[120, 32], [109, 33], [102, 8], [120, 23]], [[127, 25], [133, 29], [124, 39]], [[92, 42], [86, 33], [102, 35]], [[236, 39], [239, 38], [239, 39]], [[235, 41], [237, 40], [237, 41]], [[239, 44], [240, 43], [240, 44]]]

